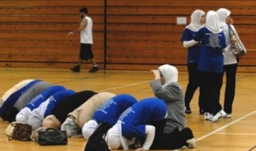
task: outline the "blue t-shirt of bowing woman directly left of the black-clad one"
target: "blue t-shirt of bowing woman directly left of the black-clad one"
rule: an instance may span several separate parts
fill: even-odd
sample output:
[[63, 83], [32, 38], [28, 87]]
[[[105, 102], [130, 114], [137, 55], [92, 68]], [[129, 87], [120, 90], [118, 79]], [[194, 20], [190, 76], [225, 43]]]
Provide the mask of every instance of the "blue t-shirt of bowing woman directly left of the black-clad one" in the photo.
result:
[[[52, 96], [50, 96], [48, 99], [50, 99], [46, 111], [45, 111], [45, 115], [43, 115], [43, 117], [47, 117], [48, 115], [50, 115], [52, 113], [53, 108], [55, 108], [55, 106], [62, 102], [65, 101], [69, 96], [75, 94], [75, 91], [73, 90], [63, 90], [63, 91], [58, 91], [55, 94], [53, 94]], [[59, 111], [61, 112], [61, 111]]]

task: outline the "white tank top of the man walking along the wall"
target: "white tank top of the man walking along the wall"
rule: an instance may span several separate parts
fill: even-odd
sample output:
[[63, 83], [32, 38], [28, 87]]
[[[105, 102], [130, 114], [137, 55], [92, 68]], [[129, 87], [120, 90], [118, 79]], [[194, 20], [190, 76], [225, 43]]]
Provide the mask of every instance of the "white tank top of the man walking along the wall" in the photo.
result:
[[84, 30], [80, 31], [80, 43], [92, 44], [92, 20], [88, 16], [86, 16], [84, 19], [87, 20], [87, 25]]

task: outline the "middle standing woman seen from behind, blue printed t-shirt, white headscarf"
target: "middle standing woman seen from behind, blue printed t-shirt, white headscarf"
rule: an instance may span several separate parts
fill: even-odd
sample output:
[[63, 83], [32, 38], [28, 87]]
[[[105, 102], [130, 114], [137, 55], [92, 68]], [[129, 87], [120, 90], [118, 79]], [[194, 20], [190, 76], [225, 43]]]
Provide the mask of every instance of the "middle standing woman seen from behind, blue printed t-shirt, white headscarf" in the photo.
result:
[[227, 44], [216, 11], [208, 11], [205, 27], [195, 34], [194, 40], [201, 42], [198, 70], [201, 72], [200, 88], [205, 101], [205, 119], [217, 121], [226, 115], [219, 98], [224, 69], [222, 51], [225, 51]]

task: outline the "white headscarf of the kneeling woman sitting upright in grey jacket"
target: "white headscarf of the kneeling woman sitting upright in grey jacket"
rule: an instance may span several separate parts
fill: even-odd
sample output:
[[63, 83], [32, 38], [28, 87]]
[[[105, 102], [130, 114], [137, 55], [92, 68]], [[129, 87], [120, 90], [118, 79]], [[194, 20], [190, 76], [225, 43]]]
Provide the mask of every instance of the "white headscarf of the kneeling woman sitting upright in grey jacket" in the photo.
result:
[[178, 69], [175, 66], [162, 65], [158, 69], [165, 78], [165, 84], [162, 85], [162, 88], [165, 88], [172, 82], [178, 82]]

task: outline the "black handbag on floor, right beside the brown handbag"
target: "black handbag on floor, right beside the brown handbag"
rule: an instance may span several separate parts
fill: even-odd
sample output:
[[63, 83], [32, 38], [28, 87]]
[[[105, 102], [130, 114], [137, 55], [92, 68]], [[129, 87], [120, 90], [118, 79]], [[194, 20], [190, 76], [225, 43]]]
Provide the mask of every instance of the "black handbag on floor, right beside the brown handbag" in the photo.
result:
[[40, 130], [38, 143], [42, 146], [66, 145], [68, 143], [67, 133], [55, 129]]

